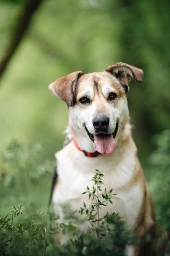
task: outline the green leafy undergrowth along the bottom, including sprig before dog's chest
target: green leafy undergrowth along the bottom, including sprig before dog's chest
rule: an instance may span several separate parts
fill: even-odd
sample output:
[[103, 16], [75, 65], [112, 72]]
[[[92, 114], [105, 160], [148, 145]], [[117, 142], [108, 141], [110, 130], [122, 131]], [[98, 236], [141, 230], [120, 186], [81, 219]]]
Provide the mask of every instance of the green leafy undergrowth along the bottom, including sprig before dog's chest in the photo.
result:
[[[19, 148], [19, 144], [15, 142], [9, 147], [10, 150]], [[6, 217], [0, 217], [0, 253], [2, 255], [113, 255], [123, 256], [124, 248], [127, 243], [133, 243], [136, 236], [129, 233], [125, 229], [124, 220], [118, 214], [108, 213], [104, 217], [99, 217], [100, 207], [106, 207], [108, 203], [112, 203], [112, 189], [104, 193], [100, 193], [103, 174], [99, 170], [95, 170], [93, 177], [94, 186], [83, 194], [88, 194], [92, 199], [89, 208], [83, 204], [84, 208], [80, 208], [79, 213], [86, 215], [89, 220], [87, 232], [81, 232], [78, 225], [73, 222], [57, 222], [51, 212], [41, 213], [34, 209], [34, 205], [24, 207], [21, 205], [13, 206], [14, 210]], [[102, 199], [100, 199], [100, 197]], [[25, 214], [27, 209], [31, 213], [26, 213], [27, 218], [21, 219], [18, 223], [14, 223], [14, 219], [18, 215]], [[56, 235], [62, 232], [68, 234], [72, 239], [60, 247], [56, 242]]]

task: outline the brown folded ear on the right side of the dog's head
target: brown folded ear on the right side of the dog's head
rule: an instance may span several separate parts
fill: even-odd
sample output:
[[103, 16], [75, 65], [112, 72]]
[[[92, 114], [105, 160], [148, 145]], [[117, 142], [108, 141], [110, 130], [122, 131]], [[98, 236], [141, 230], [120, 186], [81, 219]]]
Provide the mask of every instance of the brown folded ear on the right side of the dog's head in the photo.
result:
[[129, 90], [128, 82], [131, 80], [131, 78], [138, 83], [141, 83], [143, 80], [142, 69], [133, 67], [123, 62], [111, 64], [109, 67], [107, 67], [106, 71], [112, 73], [125, 86], [126, 92]]

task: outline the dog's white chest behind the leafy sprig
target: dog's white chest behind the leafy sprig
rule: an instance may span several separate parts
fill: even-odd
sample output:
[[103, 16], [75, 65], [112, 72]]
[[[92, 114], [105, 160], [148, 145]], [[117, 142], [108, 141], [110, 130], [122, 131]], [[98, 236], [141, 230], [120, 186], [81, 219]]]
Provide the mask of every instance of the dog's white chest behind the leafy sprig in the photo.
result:
[[134, 169], [132, 157], [128, 160], [130, 167], [127, 161], [113, 166], [113, 162], [109, 159], [106, 163], [99, 158], [95, 161], [89, 158], [77, 158], [75, 165], [71, 159], [67, 158], [68, 161], [63, 162], [61, 158], [60, 155], [57, 161], [59, 178], [53, 194], [53, 203], [56, 211], [60, 208], [62, 220], [65, 219], [62, 206], [67, 206], [67, 210], [73, 213], [83, 207], [83, 202], [86, 203], [87, 207], [92, 203], [91, 199], [89, 200], [88, 196], [82, 193], [86, 191], [87, 186], [92, 189], [94, 185], [91, 180], [94, 176], [93, 171], [99, 169], [104, 174], [102, 178], [104, 184], [100, 193], [103, 193], [106, 188], [107, 191], [113, 189], [113, 193], [116, 194], [112, 195], [112, 204], [108, 203], [107, 206], [101, 206], [100, 217], [103, 217], [107, 212], [110, 214], [116, 212], [126, 220], [129, 228], [133, 227], [142, 204], [142, 191], [138, 185], [125, 186], [132, 176], [131, 168]]

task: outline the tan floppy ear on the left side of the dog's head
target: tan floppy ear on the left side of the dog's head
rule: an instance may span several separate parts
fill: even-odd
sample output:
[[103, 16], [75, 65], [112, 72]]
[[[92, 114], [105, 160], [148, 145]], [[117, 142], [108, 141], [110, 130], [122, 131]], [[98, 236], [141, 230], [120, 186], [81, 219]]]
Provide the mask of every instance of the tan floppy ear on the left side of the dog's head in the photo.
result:
[[52, 82], [48, 88], [59, 99], [65, 101], [68, 106], [72, 106], [77, 81], [83, 74], [82, 71], [73, 72], [67, 76], [58, 78], [55, 82]]

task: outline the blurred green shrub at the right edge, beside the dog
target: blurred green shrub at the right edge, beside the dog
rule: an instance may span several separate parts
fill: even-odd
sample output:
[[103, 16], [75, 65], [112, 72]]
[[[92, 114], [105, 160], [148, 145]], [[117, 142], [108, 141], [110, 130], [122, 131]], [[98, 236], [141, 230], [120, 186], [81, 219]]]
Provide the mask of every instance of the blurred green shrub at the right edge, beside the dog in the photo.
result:
[[151, 192], [157, 219], [170, 234], [170, 130], [153, 137], [156, 150], [150, 155]]

